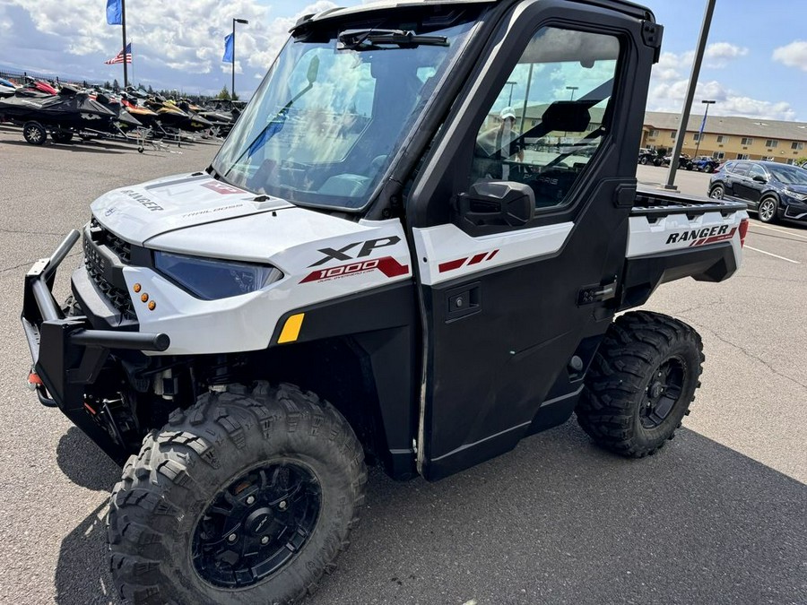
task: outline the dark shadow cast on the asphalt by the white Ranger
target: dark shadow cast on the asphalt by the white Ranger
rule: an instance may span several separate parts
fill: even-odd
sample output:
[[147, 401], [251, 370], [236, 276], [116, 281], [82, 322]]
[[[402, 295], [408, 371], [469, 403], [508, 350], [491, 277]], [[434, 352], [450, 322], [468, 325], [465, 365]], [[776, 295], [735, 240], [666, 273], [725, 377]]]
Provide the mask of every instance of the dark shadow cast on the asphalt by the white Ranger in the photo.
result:
[[[63, 541], [62, 605], [118, 602], [102, 530]], [[351, 541], [304, 605], [807, 602], [807, 486], [686, 429], [640, 461], [568, 422], [438, 483], [373, 471]]]

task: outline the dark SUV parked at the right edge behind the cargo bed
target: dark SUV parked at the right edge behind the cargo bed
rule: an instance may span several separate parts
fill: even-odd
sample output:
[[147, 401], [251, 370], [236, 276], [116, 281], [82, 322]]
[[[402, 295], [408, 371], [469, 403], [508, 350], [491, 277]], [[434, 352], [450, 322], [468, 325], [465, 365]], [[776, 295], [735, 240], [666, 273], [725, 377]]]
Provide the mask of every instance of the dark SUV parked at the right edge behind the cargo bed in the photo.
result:
[[807, 171], [773, 161], [728, 161], [709, 180], [709, 197], [745, 202], [762, 222], [807, 221]]

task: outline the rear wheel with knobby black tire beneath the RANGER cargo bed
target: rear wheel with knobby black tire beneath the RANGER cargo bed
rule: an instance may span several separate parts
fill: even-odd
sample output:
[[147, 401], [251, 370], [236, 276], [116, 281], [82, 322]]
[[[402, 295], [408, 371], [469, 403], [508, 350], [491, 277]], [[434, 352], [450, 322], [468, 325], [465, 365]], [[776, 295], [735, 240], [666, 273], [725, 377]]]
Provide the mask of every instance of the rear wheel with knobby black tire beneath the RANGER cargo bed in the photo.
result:
[[608, 329], [586, 376], [577, 422], [598, 445], [655, 454], [689, 414], [704, 360], [700, 336], [677, 319], [639, 311]]

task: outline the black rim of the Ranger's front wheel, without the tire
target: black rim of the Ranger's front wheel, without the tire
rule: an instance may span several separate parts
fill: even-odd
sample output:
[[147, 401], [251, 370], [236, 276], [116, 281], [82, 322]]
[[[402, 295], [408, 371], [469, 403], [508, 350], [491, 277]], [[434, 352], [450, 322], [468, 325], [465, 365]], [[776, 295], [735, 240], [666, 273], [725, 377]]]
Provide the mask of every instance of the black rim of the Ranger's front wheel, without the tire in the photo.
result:
[[273, 575], [308, 542], [321, 502], [317, 478], [298, 463], [247, 472], [222, 489], [196, 523], [196, 573], [225, 588], [246, 588]]

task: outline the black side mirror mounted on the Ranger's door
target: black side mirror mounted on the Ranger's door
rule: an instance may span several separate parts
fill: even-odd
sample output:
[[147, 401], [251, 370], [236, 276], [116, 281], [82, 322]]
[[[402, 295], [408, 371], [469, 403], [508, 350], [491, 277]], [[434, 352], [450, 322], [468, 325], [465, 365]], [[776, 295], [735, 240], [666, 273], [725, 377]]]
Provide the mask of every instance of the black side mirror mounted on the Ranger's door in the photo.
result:
[[532, 220], [534, 209], [532, 187], [513, 181], [474, 183], [467, 194], [457, 196], [459, 219], [469, 227], [521, 227]]

